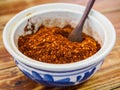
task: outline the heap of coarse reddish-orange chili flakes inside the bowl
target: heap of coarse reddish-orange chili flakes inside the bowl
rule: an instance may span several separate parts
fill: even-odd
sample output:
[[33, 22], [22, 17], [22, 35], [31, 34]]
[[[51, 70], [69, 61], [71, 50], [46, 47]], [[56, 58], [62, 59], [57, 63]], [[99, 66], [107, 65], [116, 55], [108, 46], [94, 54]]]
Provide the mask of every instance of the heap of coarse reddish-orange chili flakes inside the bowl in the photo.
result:
[[70, 25], [63, 28], [42, 25], [36, 33], [20, 36], [18, 48], [34, 60], [52, 64], [84, 60], [101, 48], [94, 38], [85, 33], [82, 42], [69, 41], [68, 35], [72, 30]]

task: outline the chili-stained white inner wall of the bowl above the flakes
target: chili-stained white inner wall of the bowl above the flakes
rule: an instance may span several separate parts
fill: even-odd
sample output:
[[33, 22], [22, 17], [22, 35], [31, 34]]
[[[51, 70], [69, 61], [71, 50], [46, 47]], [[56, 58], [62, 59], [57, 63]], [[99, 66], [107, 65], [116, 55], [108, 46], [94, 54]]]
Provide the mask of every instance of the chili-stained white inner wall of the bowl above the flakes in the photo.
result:
[[[31, 23], [33, 23], [35, 26], [35, 31], [37, 31], [41, 25], [45, 25], [47, 27], [58, 26], [61, 28], [66, 25], [71, 25], [75, 28], [75, 26], [79, 23], [81, 15], [82, 12], [75, 13], [70, 11], [50, 11], [31, 15], [24, 18], [16, 25], [12, 38], [12, 40], [14, 40], [13, 44], [16, 48], [18, 48], [19, 36], [31, 33], [31, 31], [24, 31], [26, 25], [30, 29], [32, 28]], [[101, 44], [101, 46], [103, 45], [105, 39], [103, 27], [94, 17], [89, 16], [86, 20], [83, 32], [94, 37]]]

